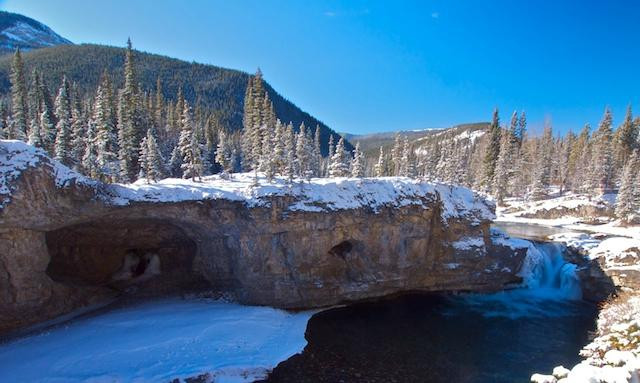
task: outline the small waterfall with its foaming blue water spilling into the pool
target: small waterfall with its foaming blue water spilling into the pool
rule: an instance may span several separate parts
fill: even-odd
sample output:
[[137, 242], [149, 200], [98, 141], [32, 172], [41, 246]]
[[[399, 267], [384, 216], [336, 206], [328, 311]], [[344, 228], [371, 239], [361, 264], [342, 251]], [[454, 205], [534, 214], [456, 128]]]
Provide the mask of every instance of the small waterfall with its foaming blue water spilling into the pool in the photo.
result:
[[519, 273], [522, 287], [495, 294], [468, 294], [462, 299], [487, 317], [573, 315], [582, 291], [577, 267], [564, 260], [564, 250], [558, 243], [532, 243]]

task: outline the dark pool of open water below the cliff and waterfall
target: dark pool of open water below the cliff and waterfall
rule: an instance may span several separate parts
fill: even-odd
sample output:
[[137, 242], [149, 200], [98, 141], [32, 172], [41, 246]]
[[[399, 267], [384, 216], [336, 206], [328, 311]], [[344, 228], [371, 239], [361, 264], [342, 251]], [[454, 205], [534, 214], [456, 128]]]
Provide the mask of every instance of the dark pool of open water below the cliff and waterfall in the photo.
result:
[[534, 372], [578, 363], [596, 307], [529, 303], [532, 312], [511, 317], [499, 299], [439, 295], [324, 311], [309, 321], [304, 351], [267, 381], [528, 382]]

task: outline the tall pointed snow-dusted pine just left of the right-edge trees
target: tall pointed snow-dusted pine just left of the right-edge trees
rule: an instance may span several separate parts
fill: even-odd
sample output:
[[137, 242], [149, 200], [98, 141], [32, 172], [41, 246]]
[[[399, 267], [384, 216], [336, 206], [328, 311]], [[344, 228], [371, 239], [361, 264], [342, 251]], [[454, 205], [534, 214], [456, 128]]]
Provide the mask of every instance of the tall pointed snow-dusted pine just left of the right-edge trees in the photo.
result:
[[612, 122], [611, 111], [606, 108], [598, 130], [593, 134], [590, 178], [591, 186], [595, 186], [591, 192], [595, 195], [609, 193], [613, 188]]

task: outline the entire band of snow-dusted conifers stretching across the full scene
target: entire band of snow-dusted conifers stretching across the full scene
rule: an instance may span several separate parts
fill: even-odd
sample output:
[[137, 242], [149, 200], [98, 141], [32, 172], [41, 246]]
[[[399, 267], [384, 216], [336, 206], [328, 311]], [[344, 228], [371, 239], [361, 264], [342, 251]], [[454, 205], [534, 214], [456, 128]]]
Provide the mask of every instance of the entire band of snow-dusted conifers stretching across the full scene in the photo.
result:
[[628, 108], [617, 129], [606, 109], [598, 127], [554, 136], [547, 123], [542, 136], [527, 132], [524, 112], [501, 124], [498, 110], [480, 139], [445, 131], [437, 139], [409, 142], [397, 135], [366, 158], [359, 144], [329, 137], [323, 157], [319, 127], [293, 126], [278, 119], [262, 73], [251, 76], [244, 97], [242, 131], [227, 131], [215, 112], [185, 100], [165, 99], [141, 89], [127, 42], [124, 84], [114, 89], [105, 71], [92, 95], [82, 97], [63, 76], [51, 93], [37, 69], [24, 73], [21, 53], [13, 57], [11, 103], [0, 105], [0, 138], [19, 139], [84, 174], [105, 182], [154, 182], [166, 177], [254, 172], [271, 180], [312, 177], [403, 176], [448, 182], [481, 190], [502, 203], [508, 197], [543, 199], [555, 187], [602, 195], [618, 191], [616, 214], [627, 219], [640, 209], [640, 118]]

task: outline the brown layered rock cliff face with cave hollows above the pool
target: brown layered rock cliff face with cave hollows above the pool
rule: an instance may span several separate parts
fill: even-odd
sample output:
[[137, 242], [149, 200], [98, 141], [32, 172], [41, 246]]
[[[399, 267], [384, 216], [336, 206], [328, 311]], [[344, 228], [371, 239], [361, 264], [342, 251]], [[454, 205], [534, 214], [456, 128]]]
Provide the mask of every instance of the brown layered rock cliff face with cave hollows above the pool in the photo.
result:
[[[5, 148], [5, 162], [27, 149]], [[133, 285], [150, 294], [215, 289], [282, 308], [411, 290], [494, 291], [518, 281], [525, 257], [526, 249], [492, 241], [490, 204], [448, 186], [339, 180], [260, 194], [274, 188], [267, 185], [243, 190], [253, 196], [243, 199], [219, 193], [219, 179], [215, 187], [111, 186], [31, 155], [37, 161], [12, 165], [18, 171], [0, 185], [2, 332]], [[150, 197], [187, 189], [189, 198]], [[378, 189], [399, 197], [384, 200]], [[303, 201], [323, 191], [333, 202]], [[351, 202], [336, 205], [343, 198]]]

